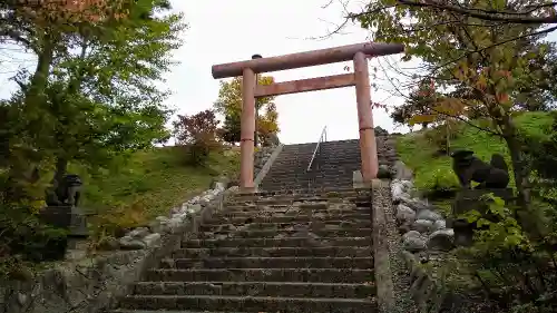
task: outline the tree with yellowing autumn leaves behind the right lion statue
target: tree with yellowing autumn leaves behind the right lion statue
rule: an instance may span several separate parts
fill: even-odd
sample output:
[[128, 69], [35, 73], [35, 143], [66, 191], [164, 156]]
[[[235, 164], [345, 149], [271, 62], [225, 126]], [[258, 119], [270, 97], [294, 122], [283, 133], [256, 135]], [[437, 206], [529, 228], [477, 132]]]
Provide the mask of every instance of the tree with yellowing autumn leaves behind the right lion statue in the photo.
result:
[[[374, 32], [375, 40], [401, 42], [407, 46], [404, 60], [419, 57], [424, 75], [419, 80], [433, 79], [444, 90], [437, 97], [434, 110], [467, 123], [470, 111], [481, 113], [491, 121], [489, 129], [473, 125], [501, 137], [509, 148], [516, 186], [522, 207], [527, 206], [529, 170], [512, 114], [525, 98], [520, 86], [539, 86], [540, 71], [530, 67], [537, 49], [548, 53], [550, 45], [543, 42], [547, 29], [540, 25], [510, 25], [481, 20], [470, 14], [430, 7], [402, 6], [384, 9], [388, 1], [373, 1], [369, 13], [358, 16], [361, 26]], [[470, 2], [471, 3], [471, 2]], [[508, 3], [515, 11], [537, 1]], [[394, 3], [397, 4], [397, 3]], [[497, 2], [476, 1], [476, 10], [497, 9]], [[472, 6], [469, 4], [469, 6]], [[383, 8], [379, 10], [379, 8]]]

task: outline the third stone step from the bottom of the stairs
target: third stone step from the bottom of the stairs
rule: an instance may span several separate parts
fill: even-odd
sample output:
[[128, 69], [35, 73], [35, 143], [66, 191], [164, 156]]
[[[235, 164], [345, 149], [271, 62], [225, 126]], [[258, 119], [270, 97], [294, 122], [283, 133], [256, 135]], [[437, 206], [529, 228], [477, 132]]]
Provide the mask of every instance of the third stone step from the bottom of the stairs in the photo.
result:
[[373, 270], [356, 268], [188, 268], [149, 270], [144, 281], [152, 282], [374, 282]]

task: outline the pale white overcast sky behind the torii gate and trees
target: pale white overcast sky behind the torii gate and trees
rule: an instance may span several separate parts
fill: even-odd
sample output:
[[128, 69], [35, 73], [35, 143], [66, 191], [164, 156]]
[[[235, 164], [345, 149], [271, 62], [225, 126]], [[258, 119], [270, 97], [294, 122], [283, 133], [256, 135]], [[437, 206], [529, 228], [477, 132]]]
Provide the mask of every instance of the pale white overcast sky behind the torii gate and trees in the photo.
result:
[[[167, 100], [179, 114], [195, 114], [212, 107], [218, 95], [218, 80], [213, 79], [211, 67], [215, 63], [250, 59], [252, 55], [280, 56], [369, 40], [368, 31], [351, 26], [341, 35], [322, 40], [342, 22], [343, 8], [330, 0], [174, 0], [175, 10], [185, 13], [189, 29], [184, 32], [184, 46], [174, 55], [180, 63], [167, 76], [167, 88], [173, 91]], [[358, 0], [351, 1], [358, 8]], [[0, 51], [3, 60], [13, 58], [12, 67], [2, 65], [0, 98], [7, 98], [14, 89], [9, 78], [17, 67], [32, 67], [29, 56]], [[395, 60], [399, 57], [391, 57]], [[0, 61], [1, 61], [0, 59]], [[375, 61], [371, 62], [372, 65]], [[271, 74], [277, 81], [312, 78], [346, 72], [351, 62], [319, 66]], [[402, 102], [400, 97], [385, 89], [372, 90], [372, 100], [389, 106]], [[354, 88], [312, 91], [276, 98], [280, 138], [285, 144], [316, 141], [323, 126], [328, 126], [329, 139], [358, 138], [358, 116]], [[375, 126], [390, 131], [397, 128], [383, 110], [375, 109]]]

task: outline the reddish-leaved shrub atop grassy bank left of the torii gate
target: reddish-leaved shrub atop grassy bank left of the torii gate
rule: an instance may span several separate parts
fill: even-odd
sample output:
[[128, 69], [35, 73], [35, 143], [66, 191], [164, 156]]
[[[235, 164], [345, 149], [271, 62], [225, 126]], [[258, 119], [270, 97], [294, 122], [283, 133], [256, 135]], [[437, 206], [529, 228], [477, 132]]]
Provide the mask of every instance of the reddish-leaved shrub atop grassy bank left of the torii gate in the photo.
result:
[[203, 165], [212, 150], [217, 148], [217, 126], [215, 114], [204, 110], [193, 116], [178, 116], [174, 123], [174, 134], [179, 145], [184, 146], [188, 162]]

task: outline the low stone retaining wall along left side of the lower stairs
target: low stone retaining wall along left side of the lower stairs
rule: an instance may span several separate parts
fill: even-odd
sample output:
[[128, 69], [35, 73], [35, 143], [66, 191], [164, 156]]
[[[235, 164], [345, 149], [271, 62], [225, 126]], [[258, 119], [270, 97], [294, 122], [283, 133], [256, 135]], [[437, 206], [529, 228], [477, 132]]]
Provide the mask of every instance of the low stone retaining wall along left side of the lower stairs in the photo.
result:
[[75, 262], [58, 263], [28, 281], [1, 282], [0, 313], [97, 313], [111, 307], [145, 270], [179, 248], [184, 235], [221, 209], [237, 190], [224, 183], [159, 216], [118, 241], [127, 251], [104, 252]]

